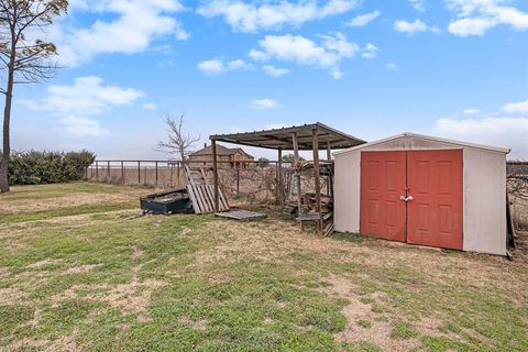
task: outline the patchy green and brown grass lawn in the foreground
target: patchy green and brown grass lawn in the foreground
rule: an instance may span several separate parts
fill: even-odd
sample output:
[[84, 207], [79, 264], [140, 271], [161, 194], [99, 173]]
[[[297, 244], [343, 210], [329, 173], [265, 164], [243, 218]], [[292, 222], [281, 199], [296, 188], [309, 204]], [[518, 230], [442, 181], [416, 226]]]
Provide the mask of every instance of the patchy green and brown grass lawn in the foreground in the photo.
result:
[[528, 265], [271, 216], [138, 217], [151, 190], [0, 196], [0, 350], [528, 351]]

